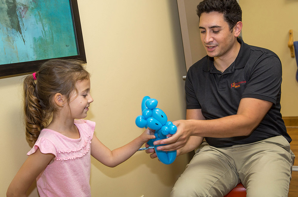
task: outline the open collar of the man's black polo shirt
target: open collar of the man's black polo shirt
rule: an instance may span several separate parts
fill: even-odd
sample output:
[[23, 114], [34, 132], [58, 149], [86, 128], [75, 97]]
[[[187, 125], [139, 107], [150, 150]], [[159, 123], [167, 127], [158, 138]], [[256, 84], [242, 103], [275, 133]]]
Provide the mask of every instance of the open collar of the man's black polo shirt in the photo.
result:
[[[237, 38], [237, 41], [241, 44], [239, 53], [235, 59], [235, 61], [227, 68], [230, 70], [230, 72], [233, 72], [234, 69], [239, 69], [239, 68], [243, 68], [246, 64], [246, 62], [249, 59], [250, 56], [250, 47], [248, 44], [246, 44], [245, 42], [243, 42], [243, 40], [241, 38]], [[214, 62], [214, 58], [213, 57], [209, 57], [208, 58], [208, 63], [203, 65], [203, 70], [205, 72], [209, 72], [211, 70], [211, 68], [213, 67], [213, 62]]]

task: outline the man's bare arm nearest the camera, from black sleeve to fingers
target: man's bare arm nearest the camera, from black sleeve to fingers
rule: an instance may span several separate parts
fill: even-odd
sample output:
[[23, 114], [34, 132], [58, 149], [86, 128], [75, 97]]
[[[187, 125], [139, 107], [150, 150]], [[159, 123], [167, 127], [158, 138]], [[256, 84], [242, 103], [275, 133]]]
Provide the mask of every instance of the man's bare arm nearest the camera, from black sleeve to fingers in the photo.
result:
[[187, 145], [190, 136], [228, 138], [249, 135], [263, 120], [272, 103], [256, 98], [242, 98], [237, 114], [213, 120], [178, 120], [177, 132], [167, 139], [155, 141], [158, 150], [173, 151]]

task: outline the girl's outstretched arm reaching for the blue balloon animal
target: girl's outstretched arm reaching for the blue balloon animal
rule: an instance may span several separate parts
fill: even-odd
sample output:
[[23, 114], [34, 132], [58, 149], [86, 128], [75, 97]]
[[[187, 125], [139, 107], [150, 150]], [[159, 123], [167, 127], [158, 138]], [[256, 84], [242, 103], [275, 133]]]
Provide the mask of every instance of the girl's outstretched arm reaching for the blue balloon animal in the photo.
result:
[[100, 163], [103, 163], [109, 167], [115, 167], [120, 163], [126, 161], [129, 157], [134, 155], [134, 153], [139, 150], [139, 148], [145, 144], [148, 140], [154, 139], [154, 132], [147, 128], [139, 137], [135, 138], [128, 144], [110, 150], [99, 139], [93, 135], [91, 140], [91, 155], [97, 159]]

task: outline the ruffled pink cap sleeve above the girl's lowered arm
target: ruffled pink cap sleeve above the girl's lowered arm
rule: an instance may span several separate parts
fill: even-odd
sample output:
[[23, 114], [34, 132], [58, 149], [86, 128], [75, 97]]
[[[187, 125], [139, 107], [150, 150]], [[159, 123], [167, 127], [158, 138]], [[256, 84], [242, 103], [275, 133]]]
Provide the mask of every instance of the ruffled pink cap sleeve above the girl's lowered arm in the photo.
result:
[[27, 153], [27, 155], [32, 155], [33, 153], [36, 152], [36, 150], [39, 148], [41, 153], [47, 154], [47, 153], [52, 153], [57, 156], [56, 153], [56, 148], [54, 144], [52, 144], [49, 140], [46, 138], [38, 138], [38, 140], [35, 142], [33, 148]]

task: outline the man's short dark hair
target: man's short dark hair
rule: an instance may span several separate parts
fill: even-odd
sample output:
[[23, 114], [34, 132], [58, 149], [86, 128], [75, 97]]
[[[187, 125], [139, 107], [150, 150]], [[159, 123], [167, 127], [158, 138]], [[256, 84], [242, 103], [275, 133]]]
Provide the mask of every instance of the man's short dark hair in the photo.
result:
[[197, 15], [202, 13], [219, 12], [224, 15], [224, 20], [229, 24], [230, 30], [242, 21], [242, 10], [236, 0], [204, 0], [197, 6]]

